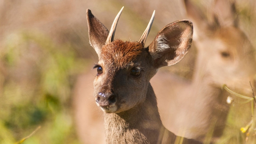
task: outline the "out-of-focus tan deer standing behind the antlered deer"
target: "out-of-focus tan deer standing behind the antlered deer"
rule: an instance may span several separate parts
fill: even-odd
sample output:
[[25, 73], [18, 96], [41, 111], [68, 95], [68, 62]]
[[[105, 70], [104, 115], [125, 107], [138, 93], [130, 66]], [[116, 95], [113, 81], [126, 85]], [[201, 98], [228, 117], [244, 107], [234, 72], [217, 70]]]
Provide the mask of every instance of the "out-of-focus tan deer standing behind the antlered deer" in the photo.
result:
[[256, 73], [254, 48], [238, 28], [234, 3], [216, 0], [212, 22], [189, 0], [185, 0], [185, 5], [194, 23], [197, 47], [192, 81], [158, 73], [151, 83], [160, 88], [155, 91], [167, 129], [197, 140], [204, 140], [211, 133], [218, 138], [230, 107], [226, 102], [230, 94], [222, 86], [226, 84], [236, 92], [251, 95], [249, 81], [255, 81]]

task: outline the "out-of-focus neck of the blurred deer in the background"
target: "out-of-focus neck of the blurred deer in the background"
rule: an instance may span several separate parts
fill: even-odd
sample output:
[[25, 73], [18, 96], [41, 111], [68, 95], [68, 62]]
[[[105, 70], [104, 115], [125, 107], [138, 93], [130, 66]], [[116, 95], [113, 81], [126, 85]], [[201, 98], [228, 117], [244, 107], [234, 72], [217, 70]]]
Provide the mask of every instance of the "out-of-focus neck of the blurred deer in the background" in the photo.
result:
[[[195, 111], [202, 113], [199, 115], [192, 113], [192, 115], [195, 118], [202, 115], [203, 118], [201, 119], [208, 124], [204, 125], [206, 127], [201, 127], [202, 132], [204, 130], [208, 131], [208, 129], [211, 129], [210, 126], [214, 125], [215, 131], [213, 132], [213, 136], [218, 137], [222, 135], [229, 111], [229, 104], [226, 103], [228, 93], [223, 91], [221, 86], [214, 83], [214, 77], [205, 70], [206, 62], [198, 56], [194, 77], [189, 87], [190, 99], [193, 98], [201, 106]], [[202, 109], [202, 107], [204, 108]], [[198, 127], [198, 131], [200, 131], [200, 127]]]

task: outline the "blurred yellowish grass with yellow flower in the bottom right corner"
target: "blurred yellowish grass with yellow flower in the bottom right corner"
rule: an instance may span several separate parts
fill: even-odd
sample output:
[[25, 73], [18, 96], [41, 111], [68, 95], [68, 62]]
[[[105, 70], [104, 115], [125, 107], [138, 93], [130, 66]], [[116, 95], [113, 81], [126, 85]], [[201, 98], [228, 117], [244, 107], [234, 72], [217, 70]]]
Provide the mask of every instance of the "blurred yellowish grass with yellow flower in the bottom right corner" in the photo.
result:
[[255, 95], [252, 88], [251, 96], [244, 96], [223, 86], [231, 95], [232, 106], [229, 111], [225, 131], [218, 141], [224, 143], [248, 143], [256, 142], [256, 118], [255, 118]]

